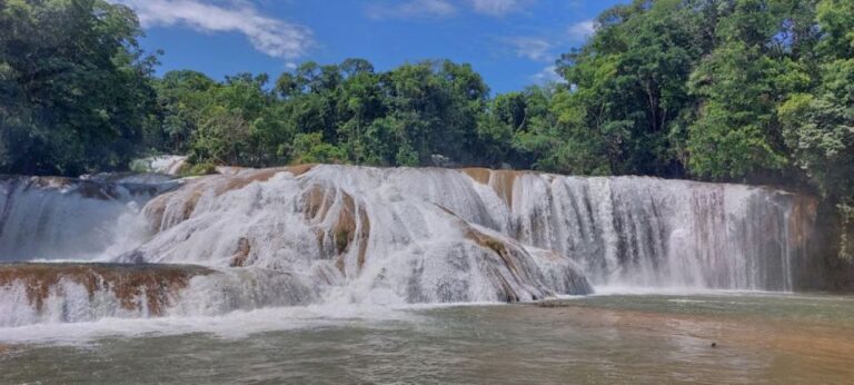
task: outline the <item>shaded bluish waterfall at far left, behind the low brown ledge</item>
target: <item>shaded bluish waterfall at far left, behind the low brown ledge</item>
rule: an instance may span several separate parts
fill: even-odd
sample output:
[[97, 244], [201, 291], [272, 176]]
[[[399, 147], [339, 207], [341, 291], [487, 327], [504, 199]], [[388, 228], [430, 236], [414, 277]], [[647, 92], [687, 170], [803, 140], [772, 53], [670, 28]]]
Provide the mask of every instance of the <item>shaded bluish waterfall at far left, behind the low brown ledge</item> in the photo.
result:
[[93, 259], [120, 249], [142, 205], [177, 186], [115, 179], [0, 177], [0, 261]]

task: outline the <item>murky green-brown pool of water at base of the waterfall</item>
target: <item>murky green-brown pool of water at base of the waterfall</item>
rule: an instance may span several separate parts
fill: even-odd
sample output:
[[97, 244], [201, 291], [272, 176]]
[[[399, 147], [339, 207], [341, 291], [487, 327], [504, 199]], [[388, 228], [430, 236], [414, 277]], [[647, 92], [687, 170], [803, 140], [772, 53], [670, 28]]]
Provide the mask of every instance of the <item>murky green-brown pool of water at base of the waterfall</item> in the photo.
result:
[[[605, 293], [607, 290], [599, 290]], [[0, 328], [0, 383], [845, 383], [854, 297], [327, 304]]]

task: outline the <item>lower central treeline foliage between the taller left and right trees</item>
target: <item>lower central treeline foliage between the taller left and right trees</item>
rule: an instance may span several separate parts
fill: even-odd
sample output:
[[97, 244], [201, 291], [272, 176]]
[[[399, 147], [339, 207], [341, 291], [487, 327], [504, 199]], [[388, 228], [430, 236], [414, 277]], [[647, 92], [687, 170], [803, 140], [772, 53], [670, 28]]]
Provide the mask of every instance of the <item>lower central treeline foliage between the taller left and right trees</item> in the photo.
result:
[[163, 150], [242, 166], [332, 161], [417, 166], [433, 155], [477, 162], [488, 89], [470, 66], [361, 59], [306, 62], [271, 88], [250, 75], [215, 82], [191, 71], [157, 81]]

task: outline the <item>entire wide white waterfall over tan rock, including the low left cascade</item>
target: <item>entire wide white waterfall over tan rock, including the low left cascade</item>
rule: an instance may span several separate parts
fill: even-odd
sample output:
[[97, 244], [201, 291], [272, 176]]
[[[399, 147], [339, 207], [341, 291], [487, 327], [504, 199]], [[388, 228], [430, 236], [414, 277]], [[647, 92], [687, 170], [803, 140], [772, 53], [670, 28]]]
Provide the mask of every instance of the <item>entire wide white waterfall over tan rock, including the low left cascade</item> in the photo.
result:
[[[220, 172], [3, 179], [0, 260], [18, 263], [0, 268], [0, 326], [340, 300], [517, 302], [613, 286], [786, 292], [816, 219], [810, 197], [648, 177]], [[23, 263], [42, 259], [62, 263]]]

